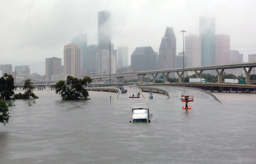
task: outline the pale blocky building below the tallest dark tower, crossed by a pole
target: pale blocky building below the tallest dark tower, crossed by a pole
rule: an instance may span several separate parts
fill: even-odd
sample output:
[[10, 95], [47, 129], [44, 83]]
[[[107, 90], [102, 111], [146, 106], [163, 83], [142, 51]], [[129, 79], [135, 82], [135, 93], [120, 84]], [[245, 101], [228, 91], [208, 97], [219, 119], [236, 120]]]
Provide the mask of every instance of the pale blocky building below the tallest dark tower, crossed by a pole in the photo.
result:
[[[111, 74], [116, 73], [116, 57], [111, 53]], [[109, 74], [109, 50], [99, 50], [96, 52], [96, 74]]]

